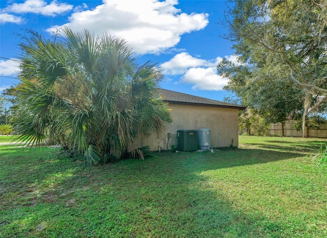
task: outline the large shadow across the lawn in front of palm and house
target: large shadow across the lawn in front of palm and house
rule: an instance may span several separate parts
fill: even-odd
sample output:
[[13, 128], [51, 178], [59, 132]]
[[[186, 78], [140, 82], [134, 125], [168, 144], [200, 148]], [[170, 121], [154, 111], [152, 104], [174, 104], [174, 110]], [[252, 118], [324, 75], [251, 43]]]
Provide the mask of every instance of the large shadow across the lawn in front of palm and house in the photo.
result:
[[[15, 237], [50, 233], [66, 237], [279, 237], [283, 227], [278, 221], [233, 210], [223, 193], [202, 187], [206, 178], [199, 173], [302, 156], [294, 151], [225, 149], [155, 153], [144, 161], [87, 168], [81, 162], [56, 158], [50, 149], [29, 156], [24, 153], [33, 150], [25, 149], [15, 158], [9, 158], [10, 151], [2, 154], [6, 161], [0, 162], [7, 170], [2, 174], [6, 183], [0, 183], [8, 186], [2, 194], [7, 199], [1, 214], [7, 223], [0, 227], [0, 234]], [[9, 197], [17, 194], [13, 205]]]

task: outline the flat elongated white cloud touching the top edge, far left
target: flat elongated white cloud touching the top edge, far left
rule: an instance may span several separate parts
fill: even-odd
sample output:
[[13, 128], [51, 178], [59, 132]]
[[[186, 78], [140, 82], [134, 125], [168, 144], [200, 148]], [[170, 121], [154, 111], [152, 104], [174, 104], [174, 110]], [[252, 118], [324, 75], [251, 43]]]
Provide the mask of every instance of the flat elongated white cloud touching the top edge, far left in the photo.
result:
[[55, 16], [73, 9], [73, 5], [58, 3], [56, 0], [47, 4], [44, 0], [26, 0], [24, 3], [14, 3], [5, 8], [5, 12], [36, 13], [45, 16]]

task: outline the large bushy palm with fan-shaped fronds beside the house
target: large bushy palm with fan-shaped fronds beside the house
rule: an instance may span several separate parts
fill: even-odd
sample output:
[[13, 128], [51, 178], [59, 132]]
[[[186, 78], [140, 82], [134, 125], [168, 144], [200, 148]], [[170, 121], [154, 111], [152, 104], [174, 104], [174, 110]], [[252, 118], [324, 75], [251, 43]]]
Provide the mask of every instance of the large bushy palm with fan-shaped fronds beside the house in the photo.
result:
[[122, 158], [137, 134], [161, 133], [171, 122], [157, 90], [160, 70], [139, 65], [122, 38], [69, 28], [52, 39], [29, 33], [20, 44], [20, 139], [40, 145], [55, 136], [96, 164]]

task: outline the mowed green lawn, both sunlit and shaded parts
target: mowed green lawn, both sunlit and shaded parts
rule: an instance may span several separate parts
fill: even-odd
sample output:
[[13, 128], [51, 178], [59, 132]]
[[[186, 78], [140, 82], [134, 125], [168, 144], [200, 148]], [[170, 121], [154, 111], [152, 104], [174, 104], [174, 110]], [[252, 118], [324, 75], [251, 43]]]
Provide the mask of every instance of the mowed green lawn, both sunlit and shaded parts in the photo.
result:
[[323, 142], [240, 136], [93, 167], [0, 145], [0, 237], [327, 237]]

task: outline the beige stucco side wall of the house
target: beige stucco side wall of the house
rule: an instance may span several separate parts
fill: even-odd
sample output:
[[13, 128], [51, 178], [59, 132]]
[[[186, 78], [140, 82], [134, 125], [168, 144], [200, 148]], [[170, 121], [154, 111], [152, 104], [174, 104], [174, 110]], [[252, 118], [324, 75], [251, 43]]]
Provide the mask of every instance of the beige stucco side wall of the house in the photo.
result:
[[[169, 104], [173, 118], [162, 135], [139, 136], [133, 148], [149, 145], [151, 150], [171, 149], [177, 146], [177, 130], [179, 129], [211, 129], [211, 144], [215, 147], [227, 147], [233, 139], [233, 145], [239, 145], [238, 110], [211, 106], [194, 106]], [[168, 142], [167, 133], [171, 133]], [[168, 146], [167, 146], [168, 142]], [[131, 147], [130, 147], [131, 148]]]

